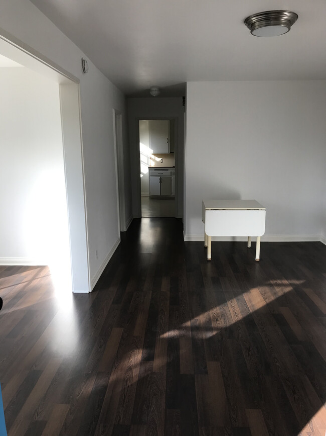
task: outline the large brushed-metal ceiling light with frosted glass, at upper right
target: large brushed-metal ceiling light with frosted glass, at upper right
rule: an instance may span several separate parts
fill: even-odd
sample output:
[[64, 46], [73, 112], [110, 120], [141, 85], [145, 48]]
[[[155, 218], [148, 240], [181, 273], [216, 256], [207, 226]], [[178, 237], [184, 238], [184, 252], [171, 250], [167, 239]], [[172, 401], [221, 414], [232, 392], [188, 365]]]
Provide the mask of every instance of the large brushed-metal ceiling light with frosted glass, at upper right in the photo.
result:
[[298, 19], [291, 11], [266, 11], [250, 15], [245, 25], [254, 36], [278, 36], [287, 33]]

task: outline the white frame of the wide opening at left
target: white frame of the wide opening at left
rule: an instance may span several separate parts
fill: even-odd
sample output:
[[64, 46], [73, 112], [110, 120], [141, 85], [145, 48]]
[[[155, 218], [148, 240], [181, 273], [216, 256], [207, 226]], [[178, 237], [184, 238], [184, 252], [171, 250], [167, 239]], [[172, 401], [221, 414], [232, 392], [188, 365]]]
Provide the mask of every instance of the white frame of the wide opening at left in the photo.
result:
[[72, 291], [90, 292], [80, 80], [3, 29], [0, 29], [0, 47], [5, 56], [59, 83]]

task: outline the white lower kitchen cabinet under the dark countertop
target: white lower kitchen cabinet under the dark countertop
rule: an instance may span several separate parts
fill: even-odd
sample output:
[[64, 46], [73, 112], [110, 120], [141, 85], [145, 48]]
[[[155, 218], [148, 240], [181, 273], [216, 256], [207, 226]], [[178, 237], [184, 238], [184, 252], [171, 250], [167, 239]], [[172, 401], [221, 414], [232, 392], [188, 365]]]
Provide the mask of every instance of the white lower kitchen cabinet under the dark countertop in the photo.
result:
[[149, 197], [175, 196], [175, 169], [149, 168]]

